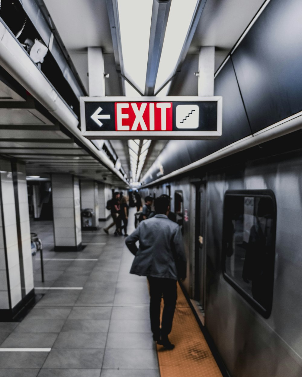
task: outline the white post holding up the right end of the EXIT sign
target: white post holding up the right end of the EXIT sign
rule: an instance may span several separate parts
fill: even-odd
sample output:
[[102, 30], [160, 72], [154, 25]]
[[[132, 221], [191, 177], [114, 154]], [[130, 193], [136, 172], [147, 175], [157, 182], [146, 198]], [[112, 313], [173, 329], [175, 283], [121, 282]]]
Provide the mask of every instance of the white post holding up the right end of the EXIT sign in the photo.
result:
[[205, 46], [199, 50], [198, 95], [214, 95], [215, 47]]

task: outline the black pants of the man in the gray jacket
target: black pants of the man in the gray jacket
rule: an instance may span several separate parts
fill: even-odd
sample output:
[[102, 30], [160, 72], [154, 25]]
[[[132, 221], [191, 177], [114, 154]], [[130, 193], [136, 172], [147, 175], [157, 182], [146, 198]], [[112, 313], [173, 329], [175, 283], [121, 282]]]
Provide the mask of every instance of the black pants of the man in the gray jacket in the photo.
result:
[[148, 276], [150, 286], [150, 321], [151, 331], [155, 337], [160, 331], [160, 302], [163, 295], [163, 315], [162, 315], [162, 336], [171, 333], [173, 316], [177, 299], [177, 280], [165, 279], [161, 277]]

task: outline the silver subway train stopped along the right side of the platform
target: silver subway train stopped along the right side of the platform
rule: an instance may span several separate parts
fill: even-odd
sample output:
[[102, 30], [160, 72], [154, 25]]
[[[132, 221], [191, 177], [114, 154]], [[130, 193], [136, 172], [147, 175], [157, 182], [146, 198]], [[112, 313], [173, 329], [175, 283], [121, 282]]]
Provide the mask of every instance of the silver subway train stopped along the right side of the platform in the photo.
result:
[[302, 151], [276, 153], [289, 139], [141, 190], [171, 198], [184, 289], [233, 377], [302, 375]]

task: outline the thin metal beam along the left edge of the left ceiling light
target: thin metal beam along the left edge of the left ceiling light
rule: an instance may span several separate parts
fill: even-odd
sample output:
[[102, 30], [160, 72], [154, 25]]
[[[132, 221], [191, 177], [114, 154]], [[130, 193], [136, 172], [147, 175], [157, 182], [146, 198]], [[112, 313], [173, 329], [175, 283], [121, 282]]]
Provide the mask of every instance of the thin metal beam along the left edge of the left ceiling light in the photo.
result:
[[106, 0], [109, 24], [111, 30], [111, 38], [113, 44], [114, 60], [116, 61], [116, 70], [121, 74], [120, 76], [120, 90], [122, 95], [125, 95], [125, 82], [122, 75], [125, 75], [123, 54], [122, 54], [122, 41], [120, 38], [120, 21], [119, 9], [117, 0]]

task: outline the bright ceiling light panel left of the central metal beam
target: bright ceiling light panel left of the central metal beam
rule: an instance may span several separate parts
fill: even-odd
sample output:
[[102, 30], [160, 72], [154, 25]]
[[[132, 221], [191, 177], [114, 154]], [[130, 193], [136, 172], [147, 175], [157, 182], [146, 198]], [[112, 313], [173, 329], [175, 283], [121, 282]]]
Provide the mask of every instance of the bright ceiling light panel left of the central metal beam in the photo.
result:
[[[134, 83], [144, 89], [153, 0], [118, 0], [117, 3], [124, 69]], [[134, 89], [127, 84], [125, 82], [126, 96], [129, 97]], [[134, 96], [137, 95], [136, 92]]]

